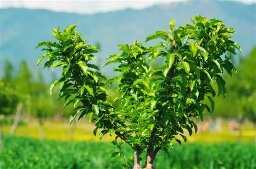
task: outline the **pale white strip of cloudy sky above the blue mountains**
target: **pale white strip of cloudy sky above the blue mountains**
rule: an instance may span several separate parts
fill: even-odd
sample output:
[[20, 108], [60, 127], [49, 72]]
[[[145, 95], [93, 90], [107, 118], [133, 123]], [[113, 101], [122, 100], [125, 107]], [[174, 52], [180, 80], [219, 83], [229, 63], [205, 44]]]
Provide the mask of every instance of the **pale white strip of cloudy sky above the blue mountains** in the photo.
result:
[[[169, 1], [136, 1], [136, 0], [112, 0], [112, 1], [81, 1], [81, 0], [2, 0], [1, 8], [16, 7], [30, 9], [49, 9], [53, 11], [72, 12], [72, 13], [97, 13], [122, 10], [126, 8], [143, 9], [154, 4], [166, 4], [186, 2], [187, 0], [169, 0]], [[256, 0], [240, 0], [244, 4], [255, 3]]]

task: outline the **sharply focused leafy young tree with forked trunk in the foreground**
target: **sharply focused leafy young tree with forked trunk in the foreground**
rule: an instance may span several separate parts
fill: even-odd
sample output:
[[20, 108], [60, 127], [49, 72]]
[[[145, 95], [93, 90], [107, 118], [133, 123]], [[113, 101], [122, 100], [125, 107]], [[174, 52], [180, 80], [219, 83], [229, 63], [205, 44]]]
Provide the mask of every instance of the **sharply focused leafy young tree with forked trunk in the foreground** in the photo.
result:
[[[218, 95], [226, 95], [224, 71], [232, 74], [234, 66], [227, 51], [241, 52], [240, 46], [230, 40], [234, 30], [225, 27], [218, 19], [207, 20], [197, 15], [191, 18], [192, 25], [174, 28], [175, 20], [170, 20], [169, 30], [156, 31], [146, 38], [146, 42], [160, 39], [155, 46], [119, 44], [120, 54], [110, 55], [104, 66], [116, 63], [113, 68], [119, 74], [106, 80], [99, 67], [94, 64], [96, 47], [86, 40], [71, 25], [63, 32], [53, 29], [57, 41], [43, 41], [37, 47], [46, 46], [46, 53], [38, 60], [48, 58], [44, 67], [62, 67], [60, 79], [53, 82], [52, 90], [60, 84], [59, 98], [66, 104], [74, 105], [70, 122], [87, 117], [95, 123], [94, 135], [100, 129], [99, 137], [109, 133], [115, 135], [114, 144], [119, 149], [126, 142], [134, 150], [133, 168], [143, 168], [140, 164], [141, 153], [146, 153], [144, 168], [154, 168], [154, 160], [160, 150], [167, 152], [174, 141], [186, 142], [186, 129], [189, 135], [195, 118], [203, 120], [204, 110], [214, 111], [216, 91], [212, 85], [218, 84]], [[162, 66], [152, 67], [151, 62], [164, 58]], [[105, 89], [109, 84], [119, 92], [113, 102], [121, 103], [118, 108], [107, 102], [110, 96]], [[209, 100], [210, 106], [205, 104]], [[114, 152], [111, 156], [123, 157]], [[124, 159], [125, 161], [125, 159]], [[127, 162], [125, 161], [126, 168]]]

